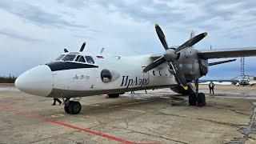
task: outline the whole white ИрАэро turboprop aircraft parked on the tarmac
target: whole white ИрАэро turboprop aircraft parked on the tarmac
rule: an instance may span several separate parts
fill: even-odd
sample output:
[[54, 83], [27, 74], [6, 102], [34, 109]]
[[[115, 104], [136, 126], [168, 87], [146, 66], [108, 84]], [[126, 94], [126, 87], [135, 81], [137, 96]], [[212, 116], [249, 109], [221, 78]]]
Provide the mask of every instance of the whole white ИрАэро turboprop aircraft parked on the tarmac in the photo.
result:
[[[170, 88], [179, 94], [189, 94], [190, 106], [205, 105], [205, 94], [198, 93], [198, 78], [208, 73], [208, 67], [234, 59], [208, 63], [210, 58], [235, 58], [256, 55], [256, 47], [233, 50], [195, 50], [192, 46], [207, 33], [190, 38], [181, 46], [169, 47], [160, 26], [155, 25], [164, 54], [107, 57], [82, 52], [69, 52], [54, 62], [36, 66], [21, 74], [15, 86], [28, 94], [50, 98], [65, 98], [64, 110], [78, 114], [82, 97], [119, 94], [134, 90]], [[194, 82], [192, 86], [190, 82]]]

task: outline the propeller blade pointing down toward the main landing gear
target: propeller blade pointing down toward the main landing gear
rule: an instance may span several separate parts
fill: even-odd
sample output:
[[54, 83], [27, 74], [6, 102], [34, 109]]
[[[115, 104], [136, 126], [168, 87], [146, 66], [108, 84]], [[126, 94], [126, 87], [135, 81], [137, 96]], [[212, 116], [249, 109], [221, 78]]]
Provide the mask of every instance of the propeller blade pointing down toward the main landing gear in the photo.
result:
[[185, 90], [188, 90], [188, 85], [186, 82], [186, 78], [184, 77], [183, 71], [178, 65], [178, 62], [176, 60], [170, 62], [170, 65], [174, 69], [174, 76], [178, 79], [178, 82], [183, 86]]

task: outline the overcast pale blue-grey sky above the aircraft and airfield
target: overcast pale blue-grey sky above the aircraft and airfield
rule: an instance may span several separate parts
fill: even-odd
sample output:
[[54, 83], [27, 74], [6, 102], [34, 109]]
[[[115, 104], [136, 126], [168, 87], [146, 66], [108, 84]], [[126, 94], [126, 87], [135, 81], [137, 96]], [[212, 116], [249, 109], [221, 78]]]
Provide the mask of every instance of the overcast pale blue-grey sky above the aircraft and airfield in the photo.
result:
[[[0, 1], [0, 75], [22, 74], [50, 62], [67, 47], [114, 55], [163, 52], [154, 23], [169, 45], [188, 40], [190, 31], [208, 36], [199, 50], [256, 46], [255, 0], [53, 0]], [[216, 61], [216, 60], [214, 60]], [[206, 78], [234, 78], [240, 59], [210, 67]], [[256, 75], [256, 58], [246, 58], [246, 74]]]

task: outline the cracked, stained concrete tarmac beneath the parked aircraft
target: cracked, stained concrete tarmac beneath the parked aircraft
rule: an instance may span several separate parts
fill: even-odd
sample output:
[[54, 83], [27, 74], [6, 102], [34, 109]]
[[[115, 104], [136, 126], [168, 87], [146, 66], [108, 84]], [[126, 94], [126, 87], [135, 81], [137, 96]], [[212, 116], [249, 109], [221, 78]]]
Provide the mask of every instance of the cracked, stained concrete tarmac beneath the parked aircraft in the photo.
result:
[[206, 106], [170, 89], [82, 98], [80, 114], [52, 98], [0, 86], [0, 143], [256, 143], [256, 87], [216, 86]]

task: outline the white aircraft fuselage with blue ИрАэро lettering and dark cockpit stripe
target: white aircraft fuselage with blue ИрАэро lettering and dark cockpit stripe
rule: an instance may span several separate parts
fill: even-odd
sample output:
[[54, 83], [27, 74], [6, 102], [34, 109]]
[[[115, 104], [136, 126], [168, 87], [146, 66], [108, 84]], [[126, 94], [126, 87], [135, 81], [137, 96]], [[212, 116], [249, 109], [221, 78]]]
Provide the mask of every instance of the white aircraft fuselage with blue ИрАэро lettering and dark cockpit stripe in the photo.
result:
[[[85, 56], [82, 53], [78, 55]], [[142, 72], [152, 62], [150, 55], [92, 58], [94, 64], [54, 61], [37, 66], [19, 76], [15, 85], [26, 93], [54, 98], [116, 94], [178, 85], [166, 63], [147, 73]], [[102, 81], [102, 70], [111, 72], [110, 82]]]

